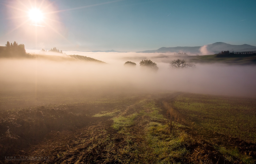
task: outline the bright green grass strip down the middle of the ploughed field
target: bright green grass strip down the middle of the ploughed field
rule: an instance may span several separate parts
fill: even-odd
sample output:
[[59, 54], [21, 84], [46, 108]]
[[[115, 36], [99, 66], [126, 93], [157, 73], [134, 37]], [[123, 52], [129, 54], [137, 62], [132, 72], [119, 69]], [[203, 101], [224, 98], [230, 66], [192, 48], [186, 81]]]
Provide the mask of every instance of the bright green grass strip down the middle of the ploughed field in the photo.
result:
[[[154, 100], [141, 100], [129, 107], [129, 110], [134, 113], [126, 116], [128, 111], [125, 111], [118, 117], [112, 118], [112, 128], [125, 136], [125, 144], [119, 149], [123, 159], [120, 162], [180, 163], [185, 161], [184, 156], [189, 154], [185, 147], [189, 143], [188, 135], [178, 128], [170, 133], [166, 118], [160, 114], [162, 109], [156, 106]], [[140, 128], [134, 133], [131, 128], [136, 126]], [[175, 126], [182, 125], [175, 124]]]

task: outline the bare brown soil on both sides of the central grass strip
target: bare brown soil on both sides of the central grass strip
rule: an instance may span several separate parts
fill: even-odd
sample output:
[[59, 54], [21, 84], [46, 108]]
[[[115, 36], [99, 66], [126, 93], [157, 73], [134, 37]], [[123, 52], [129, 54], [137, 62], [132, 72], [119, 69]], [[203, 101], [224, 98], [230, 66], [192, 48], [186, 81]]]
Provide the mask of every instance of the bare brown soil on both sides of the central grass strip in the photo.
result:
[[[214, 145], [236, 147], [247, 156], [256, 158], [256, 144], [239, 138], [212, 132], [194, 126], [192, 120], [172, 108], [170, 101], [179, 93], [166, 95], [155, 100], [161, 113], [167, 110], [174, 113], [176, 122], [186, 125], [180, 127], [194, 142], [186, 146], [189, 155], [182, 163], [231, 163], [225, 159]], [[142, 107], [138, 102], [123, 105], [123, 116], [133, 114]], [[148, 98], [148, 97], [147, 97]], [[0, 122], [0, 155], [2, 163], [123, 163], [123, 158], [134, 158], [131, 154], [120, 154], [120, 150], [131, 143], [133, 149], [143, 151], [145, 147], [144, 128], [148, 123], [146, 116], [135, 118], [129, 127], [131, 143], [126, 136], [111, 126], [109, 117], [93, 117], [100, 111], [113, 111], [114, 103], [75, 104], [55, 107], [41, 106], [34, 109], [2, 111]], [[134, 144], [136, 143], [136, 144]], [[108, 151], [106, 151], [108, 150]], [[30, 158], [35, 161], [8, 161], [6, 157]], [[42, 157], [38, 160], [38, 156]], [[37, 158], [36, 158], [37, 157]], [[139, 155], [136, 158], [143, 158]], [[45, 160], [44, 160], [45, 159]], [[136, 161], [134, 161], [136, 162]], [[243, 163], [237, 160], [236, 163]]]

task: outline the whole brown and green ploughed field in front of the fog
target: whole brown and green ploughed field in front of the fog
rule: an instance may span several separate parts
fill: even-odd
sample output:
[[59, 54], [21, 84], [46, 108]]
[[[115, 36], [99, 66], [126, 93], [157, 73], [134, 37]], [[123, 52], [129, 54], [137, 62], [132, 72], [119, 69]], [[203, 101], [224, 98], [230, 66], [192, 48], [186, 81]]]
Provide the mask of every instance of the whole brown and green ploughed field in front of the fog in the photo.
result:
[[10, 109], [1, 99], [0, 158], [2, 163], [255, 163], [255, 100], [168, 92]]

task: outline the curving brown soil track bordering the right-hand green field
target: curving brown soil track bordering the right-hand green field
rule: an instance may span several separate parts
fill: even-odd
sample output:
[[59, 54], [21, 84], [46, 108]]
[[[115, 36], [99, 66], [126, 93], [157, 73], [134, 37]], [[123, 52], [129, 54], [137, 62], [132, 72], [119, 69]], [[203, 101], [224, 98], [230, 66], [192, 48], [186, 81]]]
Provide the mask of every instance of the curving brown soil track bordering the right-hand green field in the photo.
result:
[[[165, 97], [164, 99], [161, 100], [161, 105], [165, 112], [169, 111], [173, 113], [173, 116], [176, 122], [187, 126], [187, 128], [183, 128], [183, 130], [186, 133], [188, 133], [190, 136], [195, 138], [196, 143], [191, 147], [194, 157], [191, 156], [191, 158], [199, 158], [200, 151], [207, 152], [206, 154], [208, 154], [208, 156], [210, 156], [212, 154], [212, 151], [214, 151], [215, 154], [220, 157], [222, 162], [225, 161], [225, 163], [230, 163], [227, 159], [223, 158], [223, 154], [221, 154], [218, 150], [216, 150], [213, 147], [213, 145], [218, 145], [218, 146], [221, 146], [221, 147], [224, 146], [227, 148], [236, 147], [241, 154], [249, 155], [254, 160], [256, 159], [255, 143], [246, 142], [240, 138], [234, 138], [226, 134], [217, 133], [210, 129], [197, 125], [186, 114], [180, 113], [177, 109], [175, 109], [172, 106], [172, 101], [174, 100], [174, 98], [175, 98], [175, 95]], [[233, 158], [234, 160], [239, 161], [237, 157], [233, 157]]]

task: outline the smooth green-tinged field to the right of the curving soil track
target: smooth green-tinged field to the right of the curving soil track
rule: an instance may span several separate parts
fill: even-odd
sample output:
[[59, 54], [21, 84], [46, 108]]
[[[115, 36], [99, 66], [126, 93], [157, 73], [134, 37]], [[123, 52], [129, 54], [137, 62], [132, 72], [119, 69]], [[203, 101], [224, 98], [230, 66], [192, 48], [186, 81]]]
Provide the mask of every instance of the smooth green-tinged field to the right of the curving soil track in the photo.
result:
[[183, 94], [173, 105], [198, 126], [256, 142], [255, 99]]

